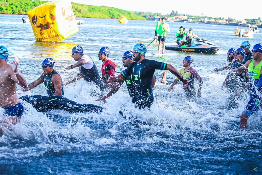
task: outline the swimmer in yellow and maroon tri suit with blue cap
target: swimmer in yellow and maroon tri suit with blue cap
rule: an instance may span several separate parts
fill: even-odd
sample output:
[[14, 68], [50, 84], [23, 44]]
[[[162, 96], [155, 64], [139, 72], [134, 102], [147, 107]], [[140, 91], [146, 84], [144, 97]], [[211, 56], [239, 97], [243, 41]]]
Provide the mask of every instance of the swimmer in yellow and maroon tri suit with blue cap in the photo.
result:
[[[200, 77], [200, 75], [197, 73], [196, 70], [194, 70], [192, 67], [190, 67], [190, 65], [192, 64], [193, 59], [190, 56], [187, 56], [184, 58], [183, 60], [183, 67], [179, 72], [180, 74], [182, 74], [183, 77], [187, 78], [190, 80], [190, 82], [188, 84], [183, 83], [183, 90], [186, 94], [187, 98], [194, 98], [196, 95], [196, 91], [194, 88], [194, 79], [196, 78], [199, 81], [199, 88], [197, 91], [197, 96], [201, 97], [201, 89], [202, 89], [202, 85], [203, 85], [203, 80]], [[170, 92], [173, 87], [179, 82], [179, 79], [176, 78], [173, 82], [173, 84], [170, 86], [170, 88], [167, 90], [168, 92]]]

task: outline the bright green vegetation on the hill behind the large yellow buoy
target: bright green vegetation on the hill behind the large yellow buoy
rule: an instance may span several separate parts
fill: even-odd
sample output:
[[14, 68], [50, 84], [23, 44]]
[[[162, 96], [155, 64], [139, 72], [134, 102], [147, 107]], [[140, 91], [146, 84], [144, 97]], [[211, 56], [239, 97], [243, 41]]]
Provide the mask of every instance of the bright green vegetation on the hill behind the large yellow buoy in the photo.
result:
[[[2, 14], [26, 14], [29, 10], [47, 1], [39, 0], [0, 0], [0, 13]], [[74, 13], [78, 17], [87, 18], [120, 18], [124, 15], [127, 19], [146, 20], [144, 17], [132, 11], [106, 6], [91, 6], [72, 2]]]

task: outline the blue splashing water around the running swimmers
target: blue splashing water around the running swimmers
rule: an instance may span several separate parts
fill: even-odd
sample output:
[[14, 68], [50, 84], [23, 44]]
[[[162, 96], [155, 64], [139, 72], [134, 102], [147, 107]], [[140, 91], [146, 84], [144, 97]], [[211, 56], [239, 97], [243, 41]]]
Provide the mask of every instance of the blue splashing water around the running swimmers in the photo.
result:
[[[96, 66], [102, 63], [97, 54], [101, 47], [110, 48], [110, 59], [118, 63], [117, 74], [124, 70], [121, 57], [136, 42], [154, 39], [155, 22], [130, 20], [121, 25], [115, 19], [81, 18], [85, 21], [79, 32], [63, 42], [35, 42], [30, 24], [23, 16], [0, 15], [0, 43], [8, 48], [9, 63], [18, 57], [19, 72], [28, 83], [42, 74], [44, 58], [55, 60], [55, 70], [62, 79], [78, 70], [64, 68], [74, 64], [71, 49], [79, 44]], [[79, 80], [64, 88], [65, 97], [79, 103], [105, 107], [101, 114], [69, 114], [53, 111], [46, 116], [23, 102], [25, 111], [14, 132], [0, 138], [0, 174], [249, 174], [261, 173], [262, 121], [261, 112], [248, 119], [248, 128], [239, 129], [240, 114], [248, 101], [248, 93], [239, 98], [237, 109], [225, 109], [229, 93], [220, 89], [227, 71], [214, 73], [226, 66], [227, 50], [237, 49], [247, 38], [234, 36], [235, 26], [169, 23], [171, 32], [166, 42], [174, 42], [181, 25], [201, 38], [219, 46], [215, 55], [190, 54], [192, 67], [202, 76], [202, 97], [184, 100], [178, 83], [168, 93], [167, 86], [156, 86], [151, 111], [134, 108], [126, 87], [107, 99], [96, 102], [93, 84]], [[248, 39], [253, 46], [261, 43], [261, 33]], [[165, 51], [158, 55], [158, 46], [149, 59], [172, 64], [178, 70], [188, 53]], [[150, 54], [151, 55], [151, 54]], [[100, 72], [100, 71], [99, 71]], [[157, 70], [158, 81], [163, 71]], [[174, 76], [167, 72], [167, 81]], [[157, 83], [159, 85], [159, 83]], [[195, 87], [198, 88], [195, 80]], [[18, 90], [21, 90], [18, 87]], [[19, 94], [47, 95], [43, 85]], [[222, 107], [221, 107], [222, 106]], [[144, 124], [126, 120], [119, 111], [137, 117]], [[3, 109], [0, 109], [2, 115]], [[149, 126], [150, 125], [150, 126]], [[253, 168], [258, 167], [258, 172]]]

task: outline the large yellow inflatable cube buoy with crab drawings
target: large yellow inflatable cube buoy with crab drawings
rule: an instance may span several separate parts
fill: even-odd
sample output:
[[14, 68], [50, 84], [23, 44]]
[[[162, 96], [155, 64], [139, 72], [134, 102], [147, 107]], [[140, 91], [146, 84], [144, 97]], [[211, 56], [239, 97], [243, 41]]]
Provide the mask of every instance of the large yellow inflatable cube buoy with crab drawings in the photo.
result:
[[27, 15], [36, 41], [61, 41], [79, 31], [70, 1], [46, 2]]

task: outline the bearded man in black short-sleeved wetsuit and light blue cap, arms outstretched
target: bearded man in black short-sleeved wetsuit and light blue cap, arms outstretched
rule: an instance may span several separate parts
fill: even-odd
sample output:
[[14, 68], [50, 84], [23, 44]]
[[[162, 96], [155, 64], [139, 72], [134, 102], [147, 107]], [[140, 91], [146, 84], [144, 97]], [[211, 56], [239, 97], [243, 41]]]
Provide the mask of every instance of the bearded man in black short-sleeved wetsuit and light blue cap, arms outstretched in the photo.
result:
[[134, 96], [132, 102], [140, 109], [148, 107], [153, 104], [154, 96], [152, 92], [152, 79], [155, 70], [169, 70], [172, 74], [179, 78], [180, 81], [187, 84], [188, 79], [183, 78], [182, 75], [172, 65], [155, 60], [145, 59], [146, 47], [144, 44], [136, 44], [133, 48], [134, 61], [117, 77], [110, 76], [108, 82], [122, 82], [130, 75], [134, 83]]

